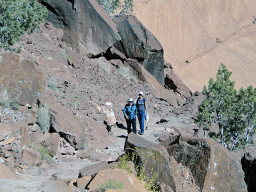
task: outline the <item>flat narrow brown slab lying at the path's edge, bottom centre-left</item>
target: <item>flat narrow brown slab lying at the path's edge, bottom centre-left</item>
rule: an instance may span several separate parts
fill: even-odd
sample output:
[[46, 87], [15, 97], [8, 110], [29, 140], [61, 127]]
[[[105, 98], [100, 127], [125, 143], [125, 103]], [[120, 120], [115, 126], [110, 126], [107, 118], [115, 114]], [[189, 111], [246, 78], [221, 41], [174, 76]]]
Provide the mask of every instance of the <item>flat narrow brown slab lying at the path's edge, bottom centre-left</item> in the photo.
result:
[[101, 170], [108, 170], [109, 164], [107, 161], [103, 161], [101, 163], [92, 164], [90, 166], [85, 166], [81, 170], [79, 170], [78, 177], [86, 177], [86, 176], [92, 176], [97, 174]]

